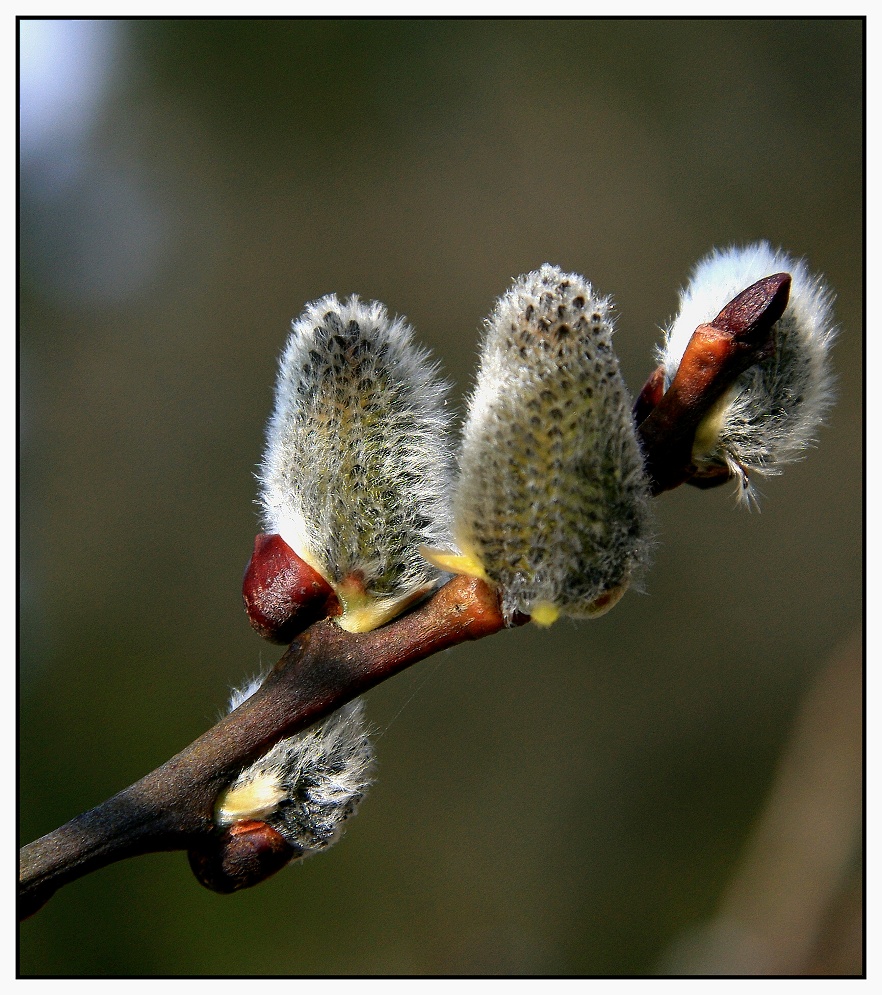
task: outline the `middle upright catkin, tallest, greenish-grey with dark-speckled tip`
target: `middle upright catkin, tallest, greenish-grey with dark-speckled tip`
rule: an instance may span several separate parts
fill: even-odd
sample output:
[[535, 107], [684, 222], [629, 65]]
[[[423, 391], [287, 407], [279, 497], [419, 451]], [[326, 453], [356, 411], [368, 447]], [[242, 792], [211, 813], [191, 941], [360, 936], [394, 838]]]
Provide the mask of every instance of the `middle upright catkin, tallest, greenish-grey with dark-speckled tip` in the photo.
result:
[[486, 322], [455, 536], [509, 617], [598, 614], [593, 603], [647, 559], [649, 492], [611, 310], [584, 278], [546, 264]]

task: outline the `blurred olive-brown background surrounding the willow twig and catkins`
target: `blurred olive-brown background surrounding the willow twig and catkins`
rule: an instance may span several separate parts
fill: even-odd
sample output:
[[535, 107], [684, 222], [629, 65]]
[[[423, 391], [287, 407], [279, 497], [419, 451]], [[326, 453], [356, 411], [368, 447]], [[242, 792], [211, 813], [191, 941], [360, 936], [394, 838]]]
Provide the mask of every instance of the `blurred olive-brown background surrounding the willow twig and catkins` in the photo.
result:
[[[21, 973], [723, 971], [737, 944], [713, 960], [701, 937], [813, 693], [835, 762], [797, 783], [839, 801], [796, 819], [793, 880], [823, 895], [805, 922], [790, 895], [801, 960], [746, 963], [859, 971], [842, 646], [863, 613], [862, 23], [20, 29], [22, 842], [177, 752], [280, 655], [240, 580], [305, 302], [407, 315], [458, 409], [482, 318], [546, 261], [615, 296], [633, 392], [715, 245], [805, 255], [841, 325], [838, 403], [760, 514], [729, 488], [663, 496], [643, 593], [369, 694], [378, 781], [327, 854], [231, 897], [180, 853], [117, 864], [24, 924]], [[851, 676], [813, 692], [837, 653]], [[769, 903], [793, 890], [758, 877], [745, 949], [774, 947]]]

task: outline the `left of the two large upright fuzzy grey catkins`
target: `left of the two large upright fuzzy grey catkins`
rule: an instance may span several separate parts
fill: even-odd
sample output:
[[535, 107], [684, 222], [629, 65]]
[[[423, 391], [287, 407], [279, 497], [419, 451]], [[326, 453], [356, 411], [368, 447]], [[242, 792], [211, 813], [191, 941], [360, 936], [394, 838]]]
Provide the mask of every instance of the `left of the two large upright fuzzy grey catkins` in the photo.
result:
[[438, 582], [449, 541], [447, 385], [412, 329], [335, 295], [293, 323], [260, 469], [265, 528], [331, 584], [343, 628], [375, 628]]

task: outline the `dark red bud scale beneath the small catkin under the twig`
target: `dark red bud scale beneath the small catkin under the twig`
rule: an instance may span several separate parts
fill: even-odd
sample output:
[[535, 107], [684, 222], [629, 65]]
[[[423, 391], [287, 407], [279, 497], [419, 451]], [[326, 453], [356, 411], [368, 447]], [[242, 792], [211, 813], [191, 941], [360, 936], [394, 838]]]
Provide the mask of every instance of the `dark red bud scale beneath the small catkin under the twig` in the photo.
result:
[[204, 849], [191, 850], [188, 857], [201, 885], [229, 895], [260, 884], [300, 854], [272, 826], [248, 819], [234, 823]]

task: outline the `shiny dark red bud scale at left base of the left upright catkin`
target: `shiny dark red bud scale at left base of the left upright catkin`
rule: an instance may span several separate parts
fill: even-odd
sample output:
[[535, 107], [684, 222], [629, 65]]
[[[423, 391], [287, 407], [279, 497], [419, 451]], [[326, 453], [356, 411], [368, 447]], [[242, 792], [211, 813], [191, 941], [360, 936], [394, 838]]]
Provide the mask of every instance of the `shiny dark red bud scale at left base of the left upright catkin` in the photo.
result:
[[274, 643], [290, 643], [313, 622], [340, 614], [331, 585], [275, 534], [255, 538], [242, 599], [252, 627]]

